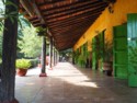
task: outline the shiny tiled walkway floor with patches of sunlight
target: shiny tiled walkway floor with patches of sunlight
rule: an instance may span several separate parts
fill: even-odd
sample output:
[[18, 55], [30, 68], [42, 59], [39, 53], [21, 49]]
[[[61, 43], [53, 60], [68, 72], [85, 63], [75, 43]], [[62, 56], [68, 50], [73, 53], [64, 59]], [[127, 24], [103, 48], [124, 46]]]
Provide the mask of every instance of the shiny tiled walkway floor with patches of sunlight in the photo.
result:
[[69, 62], [47, 70], [46, 78], [39, 78], [39, 71], [35, 68], [26, 77], [16, 77], [20, 103], [137, 103], [137, 88], [99, 71], [78, 69]]

